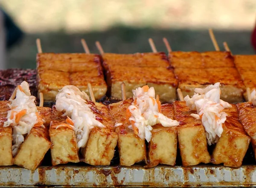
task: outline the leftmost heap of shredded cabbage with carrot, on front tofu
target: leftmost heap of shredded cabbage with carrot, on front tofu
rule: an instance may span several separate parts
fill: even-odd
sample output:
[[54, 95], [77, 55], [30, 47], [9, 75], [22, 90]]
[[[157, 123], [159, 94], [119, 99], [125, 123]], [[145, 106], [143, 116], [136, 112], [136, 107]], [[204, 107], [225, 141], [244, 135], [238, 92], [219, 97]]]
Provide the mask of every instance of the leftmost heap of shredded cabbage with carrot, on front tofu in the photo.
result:
[[11, 110], [8, 111], [7, 121], [3, 126], [13, 127], [12, 154], [16, 155], [20, 145], [24, 142], [24, 135], [29, 134], [34, 126], [44, 125], [35, 105], [35, 97], [31, 96], [29, 84], [26, 81], [17, 86], [16, 98], [10, 101], [11, 104], [8, 105]]

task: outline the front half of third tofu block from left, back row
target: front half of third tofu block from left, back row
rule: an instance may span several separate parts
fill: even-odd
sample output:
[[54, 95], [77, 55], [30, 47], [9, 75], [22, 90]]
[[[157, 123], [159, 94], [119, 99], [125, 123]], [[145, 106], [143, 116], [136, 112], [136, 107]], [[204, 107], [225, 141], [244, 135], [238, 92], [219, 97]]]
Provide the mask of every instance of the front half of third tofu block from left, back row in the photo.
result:
[[228, 103], [243, 101], [244, 84], [236, 68], [175, 68], [179, 80], [178, 88], [183, 96], [194, 94], [195, 88], [205, 88], [210, 84], [221, 83], [221, 99]]

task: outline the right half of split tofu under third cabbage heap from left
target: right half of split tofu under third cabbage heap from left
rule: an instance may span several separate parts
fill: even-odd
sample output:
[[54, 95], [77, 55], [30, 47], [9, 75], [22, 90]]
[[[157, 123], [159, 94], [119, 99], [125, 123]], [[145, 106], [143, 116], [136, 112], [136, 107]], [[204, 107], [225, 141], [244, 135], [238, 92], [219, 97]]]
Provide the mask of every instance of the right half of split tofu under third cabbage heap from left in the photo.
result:
[[[161, 105], [161, 113], [173, 120], [172, 104]], [[161, 124], [152, 126], [152, 137], [148, 143], [148, 160], [146, 167], [156, 165], [175, 165], [177, 156], [177, 127], [163, 127]]]

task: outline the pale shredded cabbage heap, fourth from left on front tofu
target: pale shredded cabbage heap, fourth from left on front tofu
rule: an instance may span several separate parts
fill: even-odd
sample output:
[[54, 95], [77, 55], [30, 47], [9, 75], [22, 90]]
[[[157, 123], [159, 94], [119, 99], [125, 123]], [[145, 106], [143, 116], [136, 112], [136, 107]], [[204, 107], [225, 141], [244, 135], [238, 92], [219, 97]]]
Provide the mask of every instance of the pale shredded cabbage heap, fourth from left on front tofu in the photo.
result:
[[206, 88], [195, 88], [195, 94], [190, 98], [184, 98], [190, 110], [196, 110], [197, 114], [191, 114], [196, 119], [201, 119], [206, 131], [209, 145], [218, 142], [223, 132], [222, 124], [226, 121], [227, 113], [224, 108], [231, 108], [227, 102], [220, 99], [220, 83], [209, 85]]

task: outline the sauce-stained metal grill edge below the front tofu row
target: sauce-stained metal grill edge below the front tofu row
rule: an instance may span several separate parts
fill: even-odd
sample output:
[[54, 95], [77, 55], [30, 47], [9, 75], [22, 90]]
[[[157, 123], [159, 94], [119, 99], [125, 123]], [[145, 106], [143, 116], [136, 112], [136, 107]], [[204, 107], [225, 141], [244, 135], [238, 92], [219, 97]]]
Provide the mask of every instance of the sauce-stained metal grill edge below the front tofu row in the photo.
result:
[[19, 167], [0, 168], [0, 186], [256, 186], [256, 166], [191, 168], [160, 165], [155, 168], [57, 166], [29, 171]]

